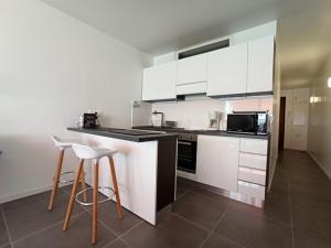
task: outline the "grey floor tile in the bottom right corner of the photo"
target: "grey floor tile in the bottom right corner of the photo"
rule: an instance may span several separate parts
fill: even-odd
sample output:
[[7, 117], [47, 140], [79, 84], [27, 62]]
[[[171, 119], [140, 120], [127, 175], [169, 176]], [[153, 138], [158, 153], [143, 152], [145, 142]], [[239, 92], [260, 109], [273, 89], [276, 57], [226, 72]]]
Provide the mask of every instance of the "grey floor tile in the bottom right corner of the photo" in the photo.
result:
[[320, 237], [313, 234], [295, 230], [296, 248], [330, 248], [331, 239]]

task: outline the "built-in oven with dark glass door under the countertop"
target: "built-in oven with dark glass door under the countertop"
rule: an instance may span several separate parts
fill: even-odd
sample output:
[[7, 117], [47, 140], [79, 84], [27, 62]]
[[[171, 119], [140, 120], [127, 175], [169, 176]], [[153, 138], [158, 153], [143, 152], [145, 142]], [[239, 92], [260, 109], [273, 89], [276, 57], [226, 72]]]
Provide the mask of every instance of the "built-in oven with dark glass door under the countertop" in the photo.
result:
[[196, 141], [193, 133], [180, 133], [178, 139], [178, 170], [196, 172]]

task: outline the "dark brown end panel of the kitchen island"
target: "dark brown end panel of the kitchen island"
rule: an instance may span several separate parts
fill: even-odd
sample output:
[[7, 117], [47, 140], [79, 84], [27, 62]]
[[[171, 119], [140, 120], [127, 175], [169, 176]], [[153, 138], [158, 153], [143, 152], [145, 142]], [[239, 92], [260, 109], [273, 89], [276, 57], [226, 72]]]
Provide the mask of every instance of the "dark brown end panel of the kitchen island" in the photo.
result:
[[177, 139], [159, 140], [157, 212], [173, 203], [175, 196]]

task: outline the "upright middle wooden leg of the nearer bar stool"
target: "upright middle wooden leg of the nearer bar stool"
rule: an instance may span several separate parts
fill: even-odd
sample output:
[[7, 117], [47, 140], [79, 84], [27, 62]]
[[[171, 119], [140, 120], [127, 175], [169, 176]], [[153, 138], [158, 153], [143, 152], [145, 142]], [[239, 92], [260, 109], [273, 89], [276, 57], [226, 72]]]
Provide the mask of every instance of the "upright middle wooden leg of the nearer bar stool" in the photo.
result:
[[99, 186], [99, 162], [94, 166], [94, 185], [93, 185], [93, 216], [92, 216], [92, 244], [95, 245], [98, 236], [98, 186]]

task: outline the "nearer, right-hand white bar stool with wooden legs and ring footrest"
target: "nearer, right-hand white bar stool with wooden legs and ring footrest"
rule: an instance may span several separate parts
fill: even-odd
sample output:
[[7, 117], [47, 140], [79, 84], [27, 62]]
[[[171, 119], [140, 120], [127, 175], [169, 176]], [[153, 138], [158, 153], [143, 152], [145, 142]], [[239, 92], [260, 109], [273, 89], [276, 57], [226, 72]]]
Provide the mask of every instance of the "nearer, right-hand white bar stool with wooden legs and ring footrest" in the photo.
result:
[[[104, 203], [106, 201], [109, 201], [107, 198], [106, 201], [98, 202], [98, 188], [110, 188], [110, 187], [103, 187], [98, 185], [98, 176], [99, 176], [99, 160], [104, 157], [107, 157], [109, 160], [109, 165], [110, 165], [110, 175], [113, 180], [113, 186], [114, 190], [110, 188], [114, 194], [116, 195], [116, 204], [117, 204], [117, 213], [119, 216], [119, 219], [122, 219], [122, 212], [121, 212], [121, 205], [120, 205], [120, 197], [119, 197], [119, 191], [118, 191], [118, 185], [117, 185], [117, 179], [116, 179], [116, 172], [115, 172], [115, 166], [114, 166], [114, 160], [113, 157], [117, 153], [116, 151], [111, 151], [108, 149], [103, 149], [103, 148], [92, 148], [88, 145], [83, 145], [83, 144], [73, 144], [73, 150], [75, 154], [79, 158], [79, 165], [78, 165], [78, 171], [76, 172], [76, 177], [74, 181], [73, 190], [72, 190], [72, 195], [70, 200], [70, 204], [67, 207], [64, 225], [63, 225], [63, 230], [67, 230], [70, 220], [71, 220], [71, 215], [74, 208], [74, 202], [76, 198], [76, 202], [81, 203], [78, 201], [78, 195], [83, 192], [86, 192], [88, 190], [93, 190], [93, 202], [92, 203], [85, 203], [84, 205], [93, 205], [93, 219], [92, 219], [92, 244], [96, 244], [97, 240], [97, 205], [98, 203]], [[93, 187], [89, 187], [87, 190], [83, 190], [76, 195], [77, 191], [77, 185], [79, 181], [79, 175], [83, 170], [84, 165], [84, 160], [93, 160], [94, 161], [94, 183]], [[82, 204], [82, 203], [81, 203]]]

